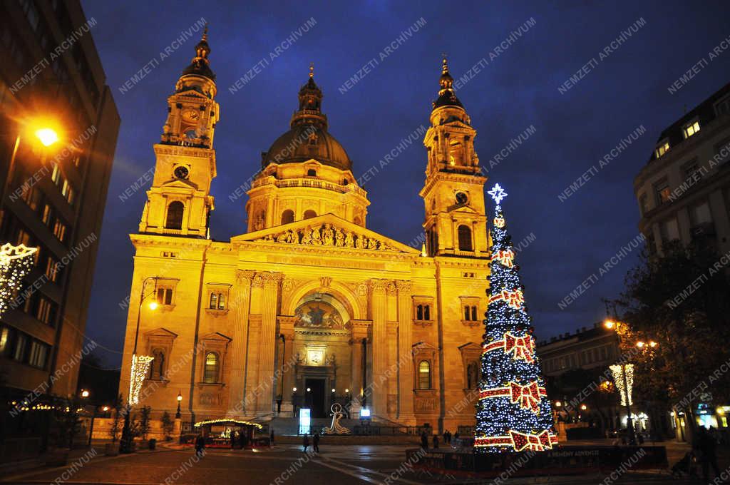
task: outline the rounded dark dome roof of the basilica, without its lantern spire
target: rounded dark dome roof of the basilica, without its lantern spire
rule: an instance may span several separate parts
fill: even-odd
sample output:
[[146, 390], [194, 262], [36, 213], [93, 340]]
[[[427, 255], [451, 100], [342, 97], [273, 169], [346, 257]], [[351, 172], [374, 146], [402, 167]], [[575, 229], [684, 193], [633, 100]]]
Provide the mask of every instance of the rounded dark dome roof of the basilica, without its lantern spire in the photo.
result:
[[261, 162], [266, 167], [269, 164], [293, 164], [311, 159], [340, 170], [353, 168], [345, 148], [326, 129], [308, 123], [294, 126], [278, 137]]

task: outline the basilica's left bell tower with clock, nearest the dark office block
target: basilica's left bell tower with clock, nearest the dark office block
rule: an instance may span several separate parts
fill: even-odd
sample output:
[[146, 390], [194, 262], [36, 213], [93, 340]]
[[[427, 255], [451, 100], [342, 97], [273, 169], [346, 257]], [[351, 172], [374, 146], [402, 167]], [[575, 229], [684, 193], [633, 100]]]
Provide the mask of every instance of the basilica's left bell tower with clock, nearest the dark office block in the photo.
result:
[[154, 145], [155, 175], [139, 232], [208, 237], [213, 210], [210, 183], [215, 178], [213, 134], [220, 118], [215, 74], [210, 69], [208, 28], [195, 57], [167, 98], [167, 120]]

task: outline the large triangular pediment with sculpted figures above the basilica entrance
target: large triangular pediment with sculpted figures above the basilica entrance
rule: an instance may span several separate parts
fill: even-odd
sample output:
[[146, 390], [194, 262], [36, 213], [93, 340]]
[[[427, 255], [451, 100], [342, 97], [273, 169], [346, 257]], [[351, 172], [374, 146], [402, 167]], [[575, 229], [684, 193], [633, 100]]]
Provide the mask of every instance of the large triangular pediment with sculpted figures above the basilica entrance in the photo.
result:
[[418, 254], [420, 251], [334, 214], [269, 227], [232, 237], [231, 242], [277, 242], [283, 245], [316, 245], [323, 248], [350, 248], [364, 251], [393, 251]]

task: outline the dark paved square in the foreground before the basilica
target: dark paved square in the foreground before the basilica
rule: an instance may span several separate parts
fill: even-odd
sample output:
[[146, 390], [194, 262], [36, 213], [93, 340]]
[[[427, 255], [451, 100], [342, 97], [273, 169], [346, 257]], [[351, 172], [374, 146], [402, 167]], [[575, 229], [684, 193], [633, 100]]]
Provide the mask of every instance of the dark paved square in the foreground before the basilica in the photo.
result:
[[[320, 446], [304, 454], [300, 446], [266, 451], [209, 450], [198, 459], [193, 451], [160, 449], [120, 457], [97, 457], [87, 463], [1, 478], [12, 484], [491, 484], [491, 481], [445, 479], [403, 467], [404, 450], [412, 446]], [[507, 484], [601, 484], [605, 476], [521, 478]], [[615, 484], [697, 484], [656, 474], [626, 474]]]

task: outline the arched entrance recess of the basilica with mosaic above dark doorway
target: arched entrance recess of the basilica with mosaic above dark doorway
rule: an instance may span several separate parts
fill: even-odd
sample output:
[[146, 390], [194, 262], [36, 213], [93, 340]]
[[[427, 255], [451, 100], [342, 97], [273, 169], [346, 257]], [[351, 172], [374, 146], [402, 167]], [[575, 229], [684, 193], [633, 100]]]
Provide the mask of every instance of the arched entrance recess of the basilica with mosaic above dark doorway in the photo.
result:
[[312, 292], [294, 316], [294, 416], [309, 408], [312, 418], [325, 418], [334, 402], [345, 405], [350, 397], [350, 311], [334, 295]]

